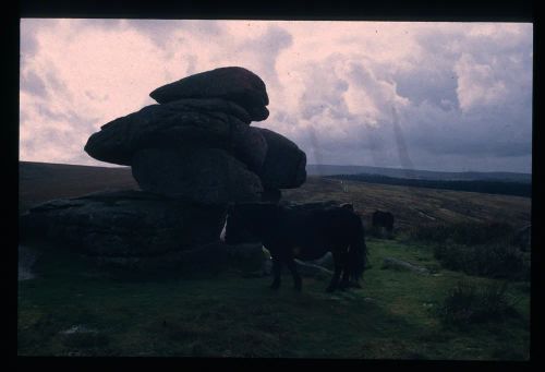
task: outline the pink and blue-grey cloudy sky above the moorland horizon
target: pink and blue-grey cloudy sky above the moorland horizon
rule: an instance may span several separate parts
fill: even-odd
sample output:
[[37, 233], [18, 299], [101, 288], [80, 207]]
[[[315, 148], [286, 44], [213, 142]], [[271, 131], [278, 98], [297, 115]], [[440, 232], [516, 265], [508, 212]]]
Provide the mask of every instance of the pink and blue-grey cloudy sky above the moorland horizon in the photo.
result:
[[113, 166], [90, 134], [229, 65], [307, 164], [531, 172], [531, 23], [23, 19], [20, 160]]

